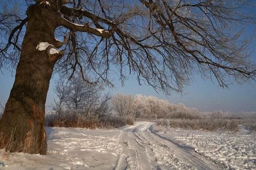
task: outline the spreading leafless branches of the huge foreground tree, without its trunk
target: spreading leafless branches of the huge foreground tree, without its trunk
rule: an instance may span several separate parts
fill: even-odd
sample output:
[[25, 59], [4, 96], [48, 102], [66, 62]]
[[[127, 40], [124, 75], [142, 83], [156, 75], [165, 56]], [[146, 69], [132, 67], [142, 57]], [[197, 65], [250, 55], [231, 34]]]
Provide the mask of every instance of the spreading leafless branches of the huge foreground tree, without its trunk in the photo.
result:
[[[17, 7], [9, 10], [1, 3], [2, 68], [19, 60], [30, 16], [19, 16], [13, 9]], [[140, 85], [145, 82], [166, 94], [182, 92], [194, 74], [215, 78], [223, 88], [255, 80], [256, 64], [250, 60], [253, 35], [245, 34], [256, 21], [253, 0], [26, 0], [26, 4], [27, 11], [37, 6], [55, 17], [55, 37], [64, 37], [65, 44], [55, 71], [69, 77], [79, 70], [94, 78], [83, 77], [87, 82], [113, 85], [110, 74], [118, 74], [122, 82], [132, 74]]]

